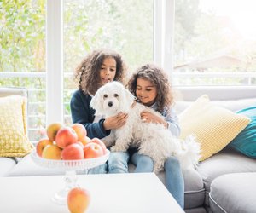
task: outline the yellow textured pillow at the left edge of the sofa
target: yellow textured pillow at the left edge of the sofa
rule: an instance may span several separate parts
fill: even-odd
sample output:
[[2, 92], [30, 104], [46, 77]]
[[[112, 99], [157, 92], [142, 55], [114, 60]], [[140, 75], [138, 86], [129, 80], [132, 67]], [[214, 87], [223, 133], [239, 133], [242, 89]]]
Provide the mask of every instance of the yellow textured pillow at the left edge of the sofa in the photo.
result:
[[23, 157], [32, 151], [26, 135], [26, 98], [0, 98], [0, 157]]

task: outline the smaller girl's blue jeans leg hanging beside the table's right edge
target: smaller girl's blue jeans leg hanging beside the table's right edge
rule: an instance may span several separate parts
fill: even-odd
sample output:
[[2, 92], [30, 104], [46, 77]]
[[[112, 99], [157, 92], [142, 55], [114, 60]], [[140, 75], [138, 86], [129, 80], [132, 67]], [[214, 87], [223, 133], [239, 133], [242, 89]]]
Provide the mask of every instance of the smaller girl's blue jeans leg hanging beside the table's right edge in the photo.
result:
[[179, 161], [172, 156], [165, 162], [166, 188], [176, 199], [177, 203], [184, 208], [184, 179]]

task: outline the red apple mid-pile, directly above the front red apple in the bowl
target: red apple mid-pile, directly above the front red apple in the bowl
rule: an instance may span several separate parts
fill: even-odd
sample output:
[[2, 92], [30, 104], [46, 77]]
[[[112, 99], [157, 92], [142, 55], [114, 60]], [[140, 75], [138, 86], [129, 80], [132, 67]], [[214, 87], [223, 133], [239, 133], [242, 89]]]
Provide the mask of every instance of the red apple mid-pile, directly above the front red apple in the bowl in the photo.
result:
[[75, 130], [68, 126], [61, 127], [61, 129], [58, 130], [55, 138], [56, 144], [61, 148], [67, 147], [69, 144], [77, 141], [78, 135], [76, 134]]

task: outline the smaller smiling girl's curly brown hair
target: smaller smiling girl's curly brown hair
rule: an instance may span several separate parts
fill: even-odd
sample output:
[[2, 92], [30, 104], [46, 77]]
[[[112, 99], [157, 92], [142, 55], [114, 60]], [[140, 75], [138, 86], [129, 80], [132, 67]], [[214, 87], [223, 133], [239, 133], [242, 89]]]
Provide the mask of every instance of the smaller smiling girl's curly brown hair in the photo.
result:
[[137, 71], [131, 76], [128, 82], [128, 89], [136, 96], [137, 78], [143, 78], [154, 84], [157, 90], [155, 99], [156, 111], [164, 112], [168, 110], [173, 103], [171, 83], [166, 73], [153, 64], [146, 64], [137, 68]]

